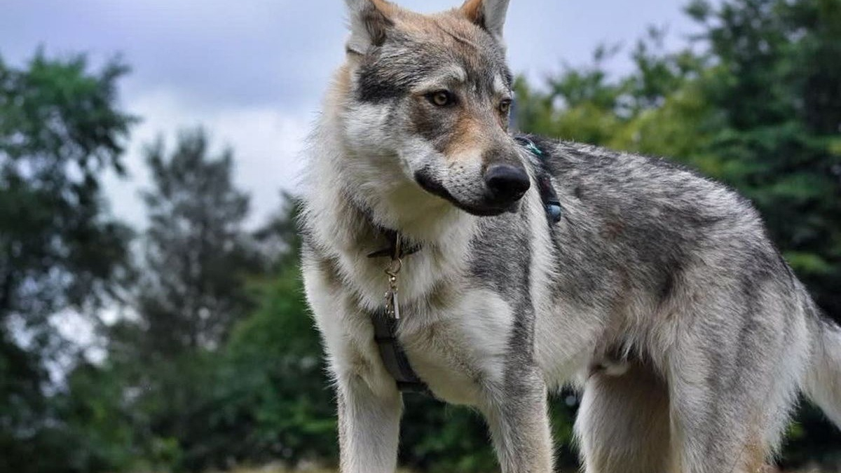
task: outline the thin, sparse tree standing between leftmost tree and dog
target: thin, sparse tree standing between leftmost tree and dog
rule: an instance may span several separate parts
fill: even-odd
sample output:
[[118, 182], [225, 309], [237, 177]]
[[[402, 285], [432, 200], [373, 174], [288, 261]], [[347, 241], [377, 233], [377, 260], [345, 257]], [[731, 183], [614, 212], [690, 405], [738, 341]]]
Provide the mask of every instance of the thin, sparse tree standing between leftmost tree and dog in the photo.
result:
[[[244, 227], [249, 198], [233, 183], [233, 152], [212, 155], [204, 130], [182, 131], [172, 151], [158, 139], [145, 157], [152, 187], [142, 193], [150, 221], [142, 276], [132, 312], [109, 328], [98, 377], [120, 386], [122, 405], [109, 404], [111, 412], [131, 414], [123, 417], [137, 448], [127, 465], [225, 467], [244, 433], [223, 428], [239, 427], [224, 415], [224, 347], [255, 307], [248, 281], [262, 273]], [[97, 376], [75, 379], [83, 386]]]

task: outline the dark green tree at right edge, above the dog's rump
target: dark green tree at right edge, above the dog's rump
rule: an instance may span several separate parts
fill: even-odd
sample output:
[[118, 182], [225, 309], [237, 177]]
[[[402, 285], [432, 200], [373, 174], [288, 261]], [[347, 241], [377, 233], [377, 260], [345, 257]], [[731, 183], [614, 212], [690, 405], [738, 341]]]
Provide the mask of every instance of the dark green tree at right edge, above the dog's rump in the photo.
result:
[[705, 2], [714, 59], [704, 94], [723, 118], [709, 151], [762, 211], [775, 242], [841, 322], [841, 3]]

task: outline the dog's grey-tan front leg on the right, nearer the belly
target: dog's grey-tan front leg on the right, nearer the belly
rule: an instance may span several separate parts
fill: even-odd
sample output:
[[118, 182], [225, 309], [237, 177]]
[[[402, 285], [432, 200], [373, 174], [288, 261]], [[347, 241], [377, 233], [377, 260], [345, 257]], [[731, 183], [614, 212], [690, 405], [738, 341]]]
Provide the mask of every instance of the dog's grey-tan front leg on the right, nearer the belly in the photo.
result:
[[506, 369], [483, 407], [503, 473], [553, 470], [546, 383], [537, 368]]

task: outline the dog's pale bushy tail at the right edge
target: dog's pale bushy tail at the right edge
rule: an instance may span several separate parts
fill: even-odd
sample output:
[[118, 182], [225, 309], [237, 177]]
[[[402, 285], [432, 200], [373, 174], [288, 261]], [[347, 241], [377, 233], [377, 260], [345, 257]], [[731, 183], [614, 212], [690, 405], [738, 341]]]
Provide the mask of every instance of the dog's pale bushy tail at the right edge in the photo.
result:
[[806, 309], [814, 342], [804, 391], [841, 428], [841, 327], [823, 316], [808, 295]]

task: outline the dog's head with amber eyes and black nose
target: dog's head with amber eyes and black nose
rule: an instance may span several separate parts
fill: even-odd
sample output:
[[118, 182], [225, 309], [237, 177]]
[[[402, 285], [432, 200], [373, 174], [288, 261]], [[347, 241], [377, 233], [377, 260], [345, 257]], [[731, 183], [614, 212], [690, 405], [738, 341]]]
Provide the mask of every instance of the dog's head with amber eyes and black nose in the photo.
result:
[[473, 215], [516, 210], [530, 181], [508, 134], [508, 0], [433, 15], [385, 0], [346, 3], [347, 146], [393, 160], [400, 178]]

